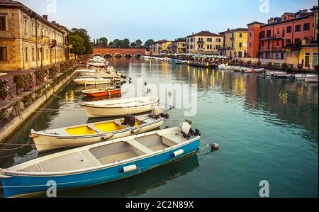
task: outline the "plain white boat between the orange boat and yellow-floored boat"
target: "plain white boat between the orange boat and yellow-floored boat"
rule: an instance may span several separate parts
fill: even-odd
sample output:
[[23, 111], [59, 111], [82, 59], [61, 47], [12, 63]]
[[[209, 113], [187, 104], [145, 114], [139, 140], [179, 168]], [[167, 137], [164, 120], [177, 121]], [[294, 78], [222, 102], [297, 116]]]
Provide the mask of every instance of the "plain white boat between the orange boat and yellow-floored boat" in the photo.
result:
[[91, 101], [82, 103], [81, 106], [89, 118], [124, 116], [151, 111], [159, 104], [157, 97], [138, 97], [133, 99], [116, 99]]

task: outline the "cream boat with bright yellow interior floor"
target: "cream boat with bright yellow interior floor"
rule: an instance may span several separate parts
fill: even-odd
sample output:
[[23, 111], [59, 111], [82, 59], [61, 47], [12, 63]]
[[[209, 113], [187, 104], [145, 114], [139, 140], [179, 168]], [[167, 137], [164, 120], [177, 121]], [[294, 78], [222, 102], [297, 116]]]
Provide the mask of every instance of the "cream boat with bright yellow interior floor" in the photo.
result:
[[111, 121], [88, 123], [53, 130], [35, 132], [31, 130], [38, 152], [69, 147], [81, 147], [105, 140], [145, 133], [163, 125], [165, 118], [150, 118], [148, 115], [136, 116], [135, 125], [123, 125], [123, 118]]

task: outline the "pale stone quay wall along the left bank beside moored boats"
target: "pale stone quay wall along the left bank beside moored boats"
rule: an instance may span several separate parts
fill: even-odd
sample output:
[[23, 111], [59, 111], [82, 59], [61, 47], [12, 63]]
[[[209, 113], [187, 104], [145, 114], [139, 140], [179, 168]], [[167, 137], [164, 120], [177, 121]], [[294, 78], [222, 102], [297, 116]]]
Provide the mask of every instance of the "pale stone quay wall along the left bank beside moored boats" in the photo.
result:
[[[4, 141], [18, 130], [18, 128], [20, 128], [21, 125], [23, 125], [23, 123], [25, 123], [28, 118], [30, 118], [30, 116], [32, 116], [33, 113], [40, 108], [40, 106], [43, 106], [43, 104], [45, 104], [45, 102], [47, 102], [53, 94], [59, 91], [63, 85], [67, 84], [67, 82], [74, 77], [74, 74], [76, 74], [76, 69], [77, 67], [73, 67], [72, 69], [67, 70], [63, 74], [60, 74], [57, 78], [52, 79], [50, 82], [47, 82], [47, 84], [44, 84], [42, 87], [28, 94], [28, 98], [36, 99], [29, 106], [23, 106], [22, 100], [19, 102], [17, 101], [16, 104], [6, 108], [6, 113], [9, 113], [10, 111], [18, 111], [18, 116], [11, 119], [11, 121], [8, 121], [8, 123], [0, 129], [0, 143], [4, 143]], [[41, 94], [40, 97], [38, 97], [39, 94]], [[26, 99], [24, 99], [24, 101], [26, 101]]]

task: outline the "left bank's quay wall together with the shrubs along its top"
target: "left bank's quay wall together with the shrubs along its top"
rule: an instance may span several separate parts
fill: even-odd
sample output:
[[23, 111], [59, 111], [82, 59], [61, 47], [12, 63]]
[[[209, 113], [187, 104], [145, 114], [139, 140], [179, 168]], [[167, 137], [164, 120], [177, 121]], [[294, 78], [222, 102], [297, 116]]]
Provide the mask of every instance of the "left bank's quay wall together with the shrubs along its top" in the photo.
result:
[[57, 77], [38, 85], [32, 91], [22, 92], [8, 100], [1, 100], [0, 143], [9, 138], [40, 106], [45, 104], [55, 92], [69, 82], [74, 77], [77, 67], [78, 65], [66, 67]]

